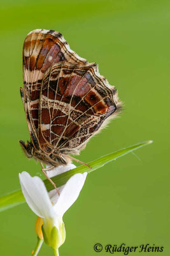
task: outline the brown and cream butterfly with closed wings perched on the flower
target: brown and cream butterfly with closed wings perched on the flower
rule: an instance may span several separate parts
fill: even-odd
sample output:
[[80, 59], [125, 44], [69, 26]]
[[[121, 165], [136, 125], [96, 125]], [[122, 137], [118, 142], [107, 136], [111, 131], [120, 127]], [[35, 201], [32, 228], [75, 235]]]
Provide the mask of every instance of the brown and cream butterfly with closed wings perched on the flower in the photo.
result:
[[31, 141], [20, 145], [27, 157], [51, 166], [43, 170], [70, 163], [70, 155], [78, 155], [121, 108], [117, 90], [97, 64], [80, 58], [53, 30], [26, 36], [23, 78], [20, 94]]

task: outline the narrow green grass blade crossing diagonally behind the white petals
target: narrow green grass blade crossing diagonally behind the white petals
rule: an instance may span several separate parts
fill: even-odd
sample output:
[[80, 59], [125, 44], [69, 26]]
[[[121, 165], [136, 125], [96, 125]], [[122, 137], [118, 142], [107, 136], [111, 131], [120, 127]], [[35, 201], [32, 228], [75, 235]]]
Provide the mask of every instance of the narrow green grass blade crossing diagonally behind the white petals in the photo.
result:
[[[142, 143], [138, 143], [136, 145], [133, 145], [131, 147], [123, 148], [122, 150], [118, 150], [117, 152], [113, 152], [111, 154], [108, 154], [106, 156], [100, 157], [99, 159], [92, 161], [88, 163], [91, 166], [91, 169], [88, 166], [81, 165], [73, 170], [70, 170], [65, 173], [61, 173], [55, 177], [52, 178], [53, 182], [57, 185], [57, 187], [60, 187], [64, 184], [66, 184], [67, 180], [73, 176], [75, 173], [83, 173], [83, 172], [94, 172], [98, 168], [101, 168], [106, 163], [110, 163], [111, 161], [117, 159], [118, 157], [125, 156], [126, 154], [129, 154], [130, 152], [141, 148], [145, 145], [148, 145], [152, 143], [152, 141], [145, 141]], [[46, 189], [50, 191], [53, 189], [52, 184], [48, 180], [44, 180]], [[0, 197], [0, 212], [5, 211], [6, 209], [10, 209], [11, 207], [14, 207], [16, 205], [22, 204], [25, 202], [25, 198], [22, 195], [21, 190], [14, 191], [12, 193], [9, 193], [7, 195]]]

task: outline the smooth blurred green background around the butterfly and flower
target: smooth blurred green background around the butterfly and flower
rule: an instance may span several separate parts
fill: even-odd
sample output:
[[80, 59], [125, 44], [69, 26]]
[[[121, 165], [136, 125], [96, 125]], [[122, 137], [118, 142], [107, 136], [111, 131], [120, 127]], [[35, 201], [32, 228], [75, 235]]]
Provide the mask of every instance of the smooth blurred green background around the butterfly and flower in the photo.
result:
[[[33, 29], [60, 31], [71, 49], [99, 64], [124, 102], [120, 117], [90, 140], [81, 161], [154, 141], [87, 177], [80, 197], [64, 215], [61, 256], [97, 255], [95, 243], [150, 243], [164, 246], [164, 251], [141, 256], [170, 253], [169, 10], [169, 1], [157, 0], [1, 1], [1, 195], [20, 188], [22, 170], [40, 173], [39, 164], [26, 159], [18, 143], [29, 139], [19, 88], [22, 44]], [[33, 212], [23, 204], [0, 216], [1, 255], [31, 255], [36, 244]], [[43, 245], [39, 255], [53, 252]]]

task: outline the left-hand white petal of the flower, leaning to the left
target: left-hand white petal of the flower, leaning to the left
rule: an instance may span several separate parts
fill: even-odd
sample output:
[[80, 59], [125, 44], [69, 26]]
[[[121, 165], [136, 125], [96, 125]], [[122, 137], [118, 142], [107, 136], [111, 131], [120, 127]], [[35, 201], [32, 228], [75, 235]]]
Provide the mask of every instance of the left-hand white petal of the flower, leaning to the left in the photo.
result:
[[19, 173], [20, 185], [25, 200], [31, 210], [41, 218], [52, 217], [52, 203], [44, 182], [39, 177], [31, 177], [29, 173]]

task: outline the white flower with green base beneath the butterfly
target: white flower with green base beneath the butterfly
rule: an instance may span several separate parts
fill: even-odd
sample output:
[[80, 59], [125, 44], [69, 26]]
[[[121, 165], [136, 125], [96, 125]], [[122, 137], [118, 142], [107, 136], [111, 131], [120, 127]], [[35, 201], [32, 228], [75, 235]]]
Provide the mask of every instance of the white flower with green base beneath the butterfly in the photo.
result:
[[[52, 175], [56, 175], [56, 172], [59, 174], [75, 167], [74, 164], [68, 164], [65, 168], [55, 168], [55, 170], [49, 172]], [[43, 223], [43, 236], [41, 237], [40, 234], [40, 238], [43, 238], [45, 243], [56, 252], [58, 252], [58, 248], [64, 243], [66, 238], [62, 216], [78, 198], [86, 177], [87, 173], [74, 174], [67, 180], [64, 186], [58, 188], [60, 192], [60, 195], [58, 195], [55, 189], [48, 194], [45, 184], [39, 177], [31, 177], [27, 172], [19, 174], [25, 200], [31, 210], [40, 217], [37, 224], [40, 230]]]

